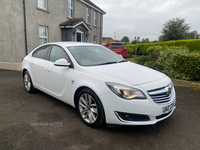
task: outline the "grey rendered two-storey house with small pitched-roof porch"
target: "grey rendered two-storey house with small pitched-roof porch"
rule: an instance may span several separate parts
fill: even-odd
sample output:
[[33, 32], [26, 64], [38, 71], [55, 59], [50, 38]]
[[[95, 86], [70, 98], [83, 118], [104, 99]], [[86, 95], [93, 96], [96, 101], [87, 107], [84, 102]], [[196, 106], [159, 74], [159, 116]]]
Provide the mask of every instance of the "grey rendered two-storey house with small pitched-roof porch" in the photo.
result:
[[90, 0], [1, 0], [0, 68], [20, 70], [22, 58], [47, 42], [102, 43], [103, 15]]

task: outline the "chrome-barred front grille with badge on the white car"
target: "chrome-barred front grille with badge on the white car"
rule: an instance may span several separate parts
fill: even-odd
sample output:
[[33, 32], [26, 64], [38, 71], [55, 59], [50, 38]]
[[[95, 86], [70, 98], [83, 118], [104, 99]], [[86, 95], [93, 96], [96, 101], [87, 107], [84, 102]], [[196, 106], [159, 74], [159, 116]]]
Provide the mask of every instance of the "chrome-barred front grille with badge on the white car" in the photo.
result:
[[170, 102], [173, 99], [175, 92], [173, 85], [170, 84], [160, 89], [148, 91], [148, 94], [155, 103], [163, 104]]

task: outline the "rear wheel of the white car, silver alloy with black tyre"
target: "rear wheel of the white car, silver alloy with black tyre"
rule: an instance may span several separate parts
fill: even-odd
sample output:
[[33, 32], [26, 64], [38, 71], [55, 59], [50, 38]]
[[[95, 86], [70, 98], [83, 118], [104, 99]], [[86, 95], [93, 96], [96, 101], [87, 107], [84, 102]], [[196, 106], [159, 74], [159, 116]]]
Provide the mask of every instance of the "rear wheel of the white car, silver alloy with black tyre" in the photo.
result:
[[31, 76], [28, 71], [25, 71], [23, 75], [23, 81], [24, 81], [24, 88], [28, 93], [35, 93], [36, 89], [33, 86]]

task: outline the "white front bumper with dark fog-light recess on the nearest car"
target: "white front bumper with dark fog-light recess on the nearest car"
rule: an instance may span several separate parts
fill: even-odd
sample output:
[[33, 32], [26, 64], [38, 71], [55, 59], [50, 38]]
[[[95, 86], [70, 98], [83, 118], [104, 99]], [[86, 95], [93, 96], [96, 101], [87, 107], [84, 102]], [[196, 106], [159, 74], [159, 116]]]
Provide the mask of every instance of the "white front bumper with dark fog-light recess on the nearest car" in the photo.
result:
[[[141, 89], [141, 87], [138, 88]], [[144, 89], [141, 90], [144, 91]], [[155, 103], [147, 92], [145, 95], [147, 96], [145, 100], [125, 100], [111, 91], [101, 95], [100, 99], [104, 107], [106, 123], [113, 125], [151, 125], [169, 117], [176, 108], [175, 91], [171, 100], [164, 104]], [[170, 111], [163, 113], [163, 108], [171, 104], [173, 104], [173, 107]], [[128, 119], [125, 119], [126, 114], [129, 115]]]

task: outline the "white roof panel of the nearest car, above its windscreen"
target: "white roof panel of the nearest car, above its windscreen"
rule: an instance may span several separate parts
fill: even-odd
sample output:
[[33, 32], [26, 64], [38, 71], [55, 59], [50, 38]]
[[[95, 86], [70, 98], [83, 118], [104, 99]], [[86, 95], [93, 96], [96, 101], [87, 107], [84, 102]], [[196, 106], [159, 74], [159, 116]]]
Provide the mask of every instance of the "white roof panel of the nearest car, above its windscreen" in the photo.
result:
[[53, 42], [53, 43], [47, 43], [48, 44], [55, 44], [60, 45], [64, 47], [70, 47], [70, 46], [100, 46], [98, 44], [93, 43], [87, 43], [87, 42]]

